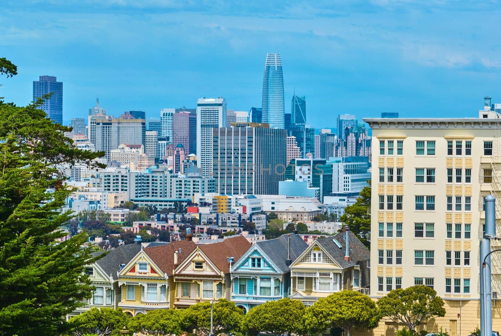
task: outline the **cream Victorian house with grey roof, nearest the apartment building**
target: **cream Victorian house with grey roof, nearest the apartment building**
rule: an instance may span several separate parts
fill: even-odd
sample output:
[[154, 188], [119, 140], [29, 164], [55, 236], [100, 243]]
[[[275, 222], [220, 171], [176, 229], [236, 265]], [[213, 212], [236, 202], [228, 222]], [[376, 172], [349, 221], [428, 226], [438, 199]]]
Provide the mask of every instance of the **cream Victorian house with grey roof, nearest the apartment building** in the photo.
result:
[[369, 249], [351, 231], [316, 239], [290, 266], [290, 297], [312, 305], [343, 289], [368, 294], [369, 259]]

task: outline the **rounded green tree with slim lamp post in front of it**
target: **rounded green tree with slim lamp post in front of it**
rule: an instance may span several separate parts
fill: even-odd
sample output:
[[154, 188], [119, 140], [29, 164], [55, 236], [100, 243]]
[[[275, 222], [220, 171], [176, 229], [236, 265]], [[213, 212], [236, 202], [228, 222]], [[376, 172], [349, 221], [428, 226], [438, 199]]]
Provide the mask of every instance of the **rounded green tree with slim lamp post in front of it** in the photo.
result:
[[[197, 333], [210, 334], [210, 302], [200, 302], [186, 309], [183, 318], [183, 330]], [[220, 298], [214, 302], [213, 309], [214, 334], [239, 332], [243, 319], [243, 310], [236, 307], [235, 303]]]

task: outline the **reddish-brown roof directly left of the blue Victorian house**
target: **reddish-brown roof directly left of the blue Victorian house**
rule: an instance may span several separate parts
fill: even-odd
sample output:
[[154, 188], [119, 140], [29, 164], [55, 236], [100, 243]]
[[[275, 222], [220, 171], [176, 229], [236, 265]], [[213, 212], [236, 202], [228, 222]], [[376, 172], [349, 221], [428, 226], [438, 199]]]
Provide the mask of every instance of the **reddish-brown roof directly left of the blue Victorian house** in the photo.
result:
[[229, 273], [229, 263], [226, 257], [232, 256], [236, 262], [249, 247], [250, 242], [243, 235], [239, 235], [226, 238], [221, 242], [201, 245], [200, 249], [223, 273]]

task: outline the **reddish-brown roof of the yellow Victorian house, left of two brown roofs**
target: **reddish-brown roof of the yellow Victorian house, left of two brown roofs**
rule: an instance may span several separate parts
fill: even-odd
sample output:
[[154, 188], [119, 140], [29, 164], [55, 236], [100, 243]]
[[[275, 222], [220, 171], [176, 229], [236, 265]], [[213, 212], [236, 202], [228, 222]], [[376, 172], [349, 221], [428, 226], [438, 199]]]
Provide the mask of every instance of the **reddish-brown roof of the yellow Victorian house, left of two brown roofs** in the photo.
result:
[[167, 245], [146, 247], [144, 251], [151, 260], [166, 273], [167, 276], [172, 276], [174, 269], [174, 251], [179, 251], [177, 254], [177, 264], [181, 263], [195, 248], [196, 244], [192, 240], [173, 241]]

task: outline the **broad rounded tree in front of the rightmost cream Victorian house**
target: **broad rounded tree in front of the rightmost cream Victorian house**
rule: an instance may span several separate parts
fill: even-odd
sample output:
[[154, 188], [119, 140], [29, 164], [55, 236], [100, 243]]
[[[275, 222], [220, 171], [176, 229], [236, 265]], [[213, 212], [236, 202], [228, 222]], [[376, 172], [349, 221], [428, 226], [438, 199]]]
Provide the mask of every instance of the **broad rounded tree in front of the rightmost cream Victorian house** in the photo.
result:
[[305, 327], [311, 333], [329, 328], [347, 331], [375, 328], [381, 315], [376, 303], [367, 295], [355, 290], [342, 290], [321, 298], [306, 309]]

